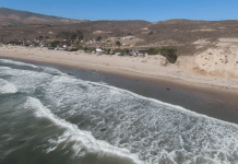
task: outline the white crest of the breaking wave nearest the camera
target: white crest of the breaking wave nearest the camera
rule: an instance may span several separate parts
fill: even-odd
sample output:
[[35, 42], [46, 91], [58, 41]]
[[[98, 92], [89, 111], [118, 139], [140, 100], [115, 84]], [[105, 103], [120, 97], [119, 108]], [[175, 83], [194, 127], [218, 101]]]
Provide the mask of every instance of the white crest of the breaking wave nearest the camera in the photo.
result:
[[[75, 152], [75, 156], [81, 156], [84, 153], [95, 153], [100, 154], [102, 157], [107, 155], [124, 157], [124, 160], [131, 161], [131, 163], [141, 163], [136, 155], [131, 154], [126, 149], [119, 149], [108, 144], [105, 141], [96, 140], [91, 132], [80, 130], [78, 126], [72, 125], [64, 119], [60, 119], [59, 117], [55, 116], [47, 107], [45, 107], [41, 102], [37, 98], [28, 97], [25, 107], [33, 107], [36, 109], [37, 117], [46, 117], [50, 119], [53, 124], [66, 128], [66, 132], [63, 136], [59, 138], [58, 141], [49, 140], [51, 143], [59, 144], [61, 142], [68, 141], [75, 141], [76, 143], [73, 145], [73, 150]], [[50, 148], [48, 152], [53, 151], [57, 148]], [[66, 143], [67, 144], [67, 143]], [[74, 157], [75, 157], [74, 156]]]

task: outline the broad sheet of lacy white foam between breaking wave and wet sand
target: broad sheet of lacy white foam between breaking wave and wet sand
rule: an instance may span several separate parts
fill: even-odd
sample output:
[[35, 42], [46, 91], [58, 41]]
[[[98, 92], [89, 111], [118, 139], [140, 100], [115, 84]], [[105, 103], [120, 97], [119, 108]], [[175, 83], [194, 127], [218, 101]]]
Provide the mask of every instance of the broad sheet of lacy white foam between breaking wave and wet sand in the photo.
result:
[[[90, 127], [96, 136], [142, 154], [146, 163], [238, 161], [238, 126], [235, 124], [70, 77], [55, 77], [45, 90], [55, 108], [71, 108], [68, 117], [88, 117], [88, 125], [96, 125]], [[98, 129], [110, 131], [107, 133], [110, 138]]]

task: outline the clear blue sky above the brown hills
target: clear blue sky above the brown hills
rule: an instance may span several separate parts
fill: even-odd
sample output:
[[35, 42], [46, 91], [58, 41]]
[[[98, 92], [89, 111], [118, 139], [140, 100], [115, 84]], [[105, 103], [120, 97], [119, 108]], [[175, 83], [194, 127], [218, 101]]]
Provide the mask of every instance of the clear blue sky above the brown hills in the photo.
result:
[[238, 0], [0, 0], [0, 8], [91, 21], [238, 19]]

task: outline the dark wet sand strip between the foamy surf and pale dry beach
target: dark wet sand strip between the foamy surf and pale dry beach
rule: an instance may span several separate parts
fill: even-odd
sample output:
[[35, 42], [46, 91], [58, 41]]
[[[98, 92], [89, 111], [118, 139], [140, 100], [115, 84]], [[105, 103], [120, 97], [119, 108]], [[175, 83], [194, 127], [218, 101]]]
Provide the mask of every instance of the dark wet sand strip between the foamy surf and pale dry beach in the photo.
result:
[[238, 95], [231, 89], [204, 84], [193, 85], [193, 83], [185, 84], [179, 80], [155, 79], [144, 74], [111, 73], [33, 60], [17, 60], [37, 66], [52, 67], [82, 80], [105, 82], [146, 97], [182, 106], [199, 114], [238, 124]]

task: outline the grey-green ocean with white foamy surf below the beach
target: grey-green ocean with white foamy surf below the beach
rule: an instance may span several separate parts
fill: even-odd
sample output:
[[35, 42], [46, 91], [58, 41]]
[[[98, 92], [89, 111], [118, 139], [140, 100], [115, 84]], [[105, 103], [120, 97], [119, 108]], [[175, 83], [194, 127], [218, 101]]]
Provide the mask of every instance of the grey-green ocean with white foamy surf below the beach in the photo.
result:
[[237, 164], [238, 126], [0, 59], [0, 164]]

